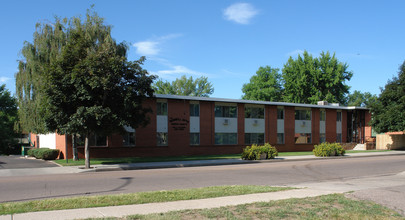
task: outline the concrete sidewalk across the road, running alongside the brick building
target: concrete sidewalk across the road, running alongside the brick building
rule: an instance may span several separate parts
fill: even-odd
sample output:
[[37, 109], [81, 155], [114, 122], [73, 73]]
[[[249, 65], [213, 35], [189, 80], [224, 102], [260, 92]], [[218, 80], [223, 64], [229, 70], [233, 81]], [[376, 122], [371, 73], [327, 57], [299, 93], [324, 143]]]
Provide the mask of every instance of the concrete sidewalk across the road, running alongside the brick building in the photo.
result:
[[100, 165], [92, 165], [92, 169], [83, 169], [84, 168], [83, 166], [1, 169], [0, 177], [85, 173], [85, 172], [101, 172], [101, 171], [117, 171], [117, 170], [196, 167], [196, 166], [218, 166], [218, 165], [249, 164], [249, 163], [275, 163], [282, 161], [329, 160], [329, 159], [346, 159], [358, 157], [379, 157], [390, 155], [405, 155], [405, 151], [349, 153], [346, 154], [345, 156], [338, 156], [338, 157], [315, 157], [314, 155], [285, 156], [285, 157], [276, 157], [275, 159], [271, 160], [254, 160], [254, 161], [241, 159], [219, 159], [219, 160], [168, 161], [168, 162], [147, 162], [147, 163], [110, 164], [110, 165], [100, 164]]

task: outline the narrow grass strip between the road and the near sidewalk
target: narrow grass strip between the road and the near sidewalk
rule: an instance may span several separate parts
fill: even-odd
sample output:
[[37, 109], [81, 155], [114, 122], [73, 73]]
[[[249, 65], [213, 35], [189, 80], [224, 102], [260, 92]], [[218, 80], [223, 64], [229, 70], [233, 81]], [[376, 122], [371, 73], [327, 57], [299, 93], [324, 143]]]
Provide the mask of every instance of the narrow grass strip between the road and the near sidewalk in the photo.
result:
[[82, 196], [73, 198], [46, 199], [27, 202], [9, 202], [9, 203], [0, 203], [0, 215], [24, 213], [24, 212], [62, 210], [62, 209], [91, 208], [91, 207], [204, 199], [221, 196], [276, 192], [290, 189], [293, 188], [257, 186], [257, 185], [212, 186], [212, 187], [180, 189], [170, 191], [152, 191], [152, 192], [139, 192], [131, 194], [118, 194], [118, 195]]

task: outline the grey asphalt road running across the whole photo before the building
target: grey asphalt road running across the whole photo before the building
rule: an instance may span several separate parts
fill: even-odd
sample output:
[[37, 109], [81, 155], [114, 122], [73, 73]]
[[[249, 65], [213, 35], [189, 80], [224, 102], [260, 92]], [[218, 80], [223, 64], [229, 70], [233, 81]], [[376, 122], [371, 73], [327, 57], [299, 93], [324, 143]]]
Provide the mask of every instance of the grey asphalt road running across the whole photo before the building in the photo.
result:
[[243, 165], [0, 177], [0, 202], [214, 185], [294, 185], [405, 171], [405, 155]]

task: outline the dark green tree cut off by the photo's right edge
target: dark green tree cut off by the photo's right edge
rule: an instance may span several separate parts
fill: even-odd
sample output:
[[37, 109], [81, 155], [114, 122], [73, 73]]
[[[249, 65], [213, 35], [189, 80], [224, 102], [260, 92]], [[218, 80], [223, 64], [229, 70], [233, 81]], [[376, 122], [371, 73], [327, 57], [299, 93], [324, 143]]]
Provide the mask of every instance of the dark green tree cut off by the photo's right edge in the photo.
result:
[[398, 77], [388, 81], [370, 107], [371, 126], [377, 133], [405, 131], [405, 61]]

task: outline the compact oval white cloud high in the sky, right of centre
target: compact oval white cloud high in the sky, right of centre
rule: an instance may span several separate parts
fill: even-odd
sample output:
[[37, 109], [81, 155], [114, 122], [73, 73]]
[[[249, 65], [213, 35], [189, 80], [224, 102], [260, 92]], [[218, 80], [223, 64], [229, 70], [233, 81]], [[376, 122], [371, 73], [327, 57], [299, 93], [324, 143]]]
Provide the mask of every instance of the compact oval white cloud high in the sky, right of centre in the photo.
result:
[[249, 24], [257, 13], [258, 10], [249, 3], [235, 3], [224, 10], [225, 19], [239, 24]]

